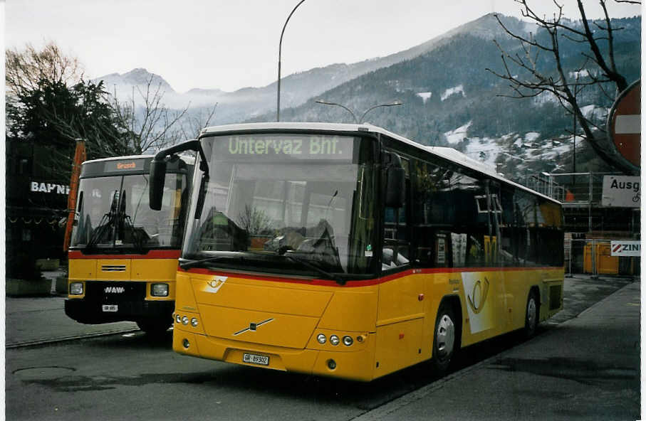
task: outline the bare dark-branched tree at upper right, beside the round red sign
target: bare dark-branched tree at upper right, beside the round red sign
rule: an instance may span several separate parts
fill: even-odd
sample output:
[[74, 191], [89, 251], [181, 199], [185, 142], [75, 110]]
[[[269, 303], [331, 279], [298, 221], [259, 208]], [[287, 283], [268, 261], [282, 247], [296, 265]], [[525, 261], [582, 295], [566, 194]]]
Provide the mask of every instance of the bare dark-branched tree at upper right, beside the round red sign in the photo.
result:
[[[507, 80], [514, 95], [502, 95], [516, 98], [536, 97], [541, 94], [553, 95], [561, 106], [570, 114], [575, 115], [580, 128], [583, 130], [584, 139], [590, 143], [595, 152], [605, 162], [627, 174], [634, 174], [635, 169], [627, 164], [620, 157], [615, 148], [608, 142], [605, 127], [601, 122], [586, 116], [579, 105], [578, 94], [585, 88], [595, 87], [612, 102], [617, 95], [626, 89], [627, 81], [618, 72], [615, 65], [615, 50], [613, 46], [614, 32], [622, 28], [613, 28], [608, 16], [605, 0], [599, 4], [603, 9], [605, 18], [600, 21], [588, 21], [583, 7], [583, 1], [577, 0], [578, 10], [581, 17], [580, 25], [569, 21], [563, 16], [563, 5], [553, 0], [556, 12], [550, 18], [540, 16], [528, 5], [527, 0], [514, 0], [521, 5], [521, 14], [530, 19], [541, 31], [540, 34], [513, 33], [499, 16], [496, 16], [500, 26], [509, 36], [520, 42], [520, 50], [517, 53], [509, 53], [504, 50], [496, 41], [501, 52], [501, 59], [504, 71], [499, 73], [491, 69], [489, 72]], [[624, 2], [640, 4], [639, 1], [625, 0]], [[595, 33], [591, 25], [600, 30], [600, 35]], [[542, 35], [545, 33], [546, 40]], [[539, 36], [541, 35], [540, 39]], [[563, 69], [563, 58], [561, 55], [560, 42], [563, 39], [575, 43], [587, 44], [589, 51], [582, 53], [580, 66], [575, 72], [567, 73]], [[600, 48], [600, 42], [608, 43], [608, 50], [605, 54]], [[541, 53], [551, 55], [553, 60], [553, 71], [547, 73], [538, 66], [538, 58]], [[524, 70], [530, 75], [519, 75], [517, 69]], [[580, 96], [579, 96], [580, 98]]]

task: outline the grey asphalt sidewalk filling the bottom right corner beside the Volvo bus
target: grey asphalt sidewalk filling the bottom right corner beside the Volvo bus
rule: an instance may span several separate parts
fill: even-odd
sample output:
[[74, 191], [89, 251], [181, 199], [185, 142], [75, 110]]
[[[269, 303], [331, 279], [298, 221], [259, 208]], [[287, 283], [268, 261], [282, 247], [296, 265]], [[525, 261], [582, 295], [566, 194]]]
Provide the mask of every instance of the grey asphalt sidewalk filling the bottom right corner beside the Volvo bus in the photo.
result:
[[355, 421], [639, 419], [637, 281], [545, 334]]

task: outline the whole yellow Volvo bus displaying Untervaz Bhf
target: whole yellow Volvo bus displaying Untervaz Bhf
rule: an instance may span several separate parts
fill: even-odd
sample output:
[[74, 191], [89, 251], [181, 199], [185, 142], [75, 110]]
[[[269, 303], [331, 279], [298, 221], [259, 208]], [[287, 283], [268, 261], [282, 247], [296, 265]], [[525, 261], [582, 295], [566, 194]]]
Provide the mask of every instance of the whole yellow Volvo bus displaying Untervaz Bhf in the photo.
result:
[[[563, 308], [561, 204], [453, 149], [326, 123], [210, 127], [184, 148], [199, 170], [178, 353], [369, 381], [444, 371]], [[151, 206], [170, 154], [153, 160]]]

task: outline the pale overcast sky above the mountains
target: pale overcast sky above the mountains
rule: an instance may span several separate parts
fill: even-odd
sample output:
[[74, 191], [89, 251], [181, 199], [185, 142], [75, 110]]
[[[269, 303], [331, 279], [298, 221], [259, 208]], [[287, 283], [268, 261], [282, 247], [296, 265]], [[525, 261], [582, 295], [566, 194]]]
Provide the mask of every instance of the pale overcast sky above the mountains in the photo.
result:
[[[578, 18], [575, 1], [566, 16]], [[9, 0], [5, 43], [54, 41], [86, 78], [146, 68], [178, 92], [264, 86], [278, 74], [278, 40], [298, 0]], [[553, 13], [551, 0], [530, 0]], [[589, 18], [601, 15], [586, 0]], [[613, 17], [641, 6], [608, 1]], [[396, 53], [490, 12], [519, 16], [513, 0], [306, 0], [283, 37], [283, 76]]]

